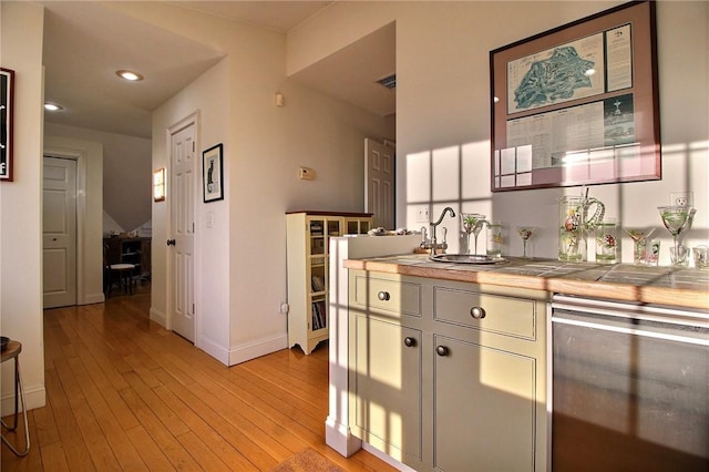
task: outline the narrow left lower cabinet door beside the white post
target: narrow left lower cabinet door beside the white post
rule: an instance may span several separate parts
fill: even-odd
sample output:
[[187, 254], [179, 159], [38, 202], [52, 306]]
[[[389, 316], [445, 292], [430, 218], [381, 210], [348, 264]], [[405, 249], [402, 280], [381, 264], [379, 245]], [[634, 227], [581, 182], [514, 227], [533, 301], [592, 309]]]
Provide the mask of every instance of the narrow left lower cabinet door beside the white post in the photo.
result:
[[352, 319], [356, 431], [399, 461], [404, 454], [420, 459], [421, 331], [366, 316]]

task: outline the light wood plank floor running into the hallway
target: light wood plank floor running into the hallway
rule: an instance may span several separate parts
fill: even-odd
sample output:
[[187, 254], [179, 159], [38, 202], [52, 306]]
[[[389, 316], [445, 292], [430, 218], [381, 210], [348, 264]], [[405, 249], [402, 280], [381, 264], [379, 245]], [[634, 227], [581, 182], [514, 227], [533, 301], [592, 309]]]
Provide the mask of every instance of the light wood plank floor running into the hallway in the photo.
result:
[[48, 404], [29, 413], [28, 456], [2, 444], [3, 472], [267, 471], [306, 447], [347, 471], [394, 470], [325, 444], [327, 346], [226, 368], [148, 308], [134, 295], [44, 312]]

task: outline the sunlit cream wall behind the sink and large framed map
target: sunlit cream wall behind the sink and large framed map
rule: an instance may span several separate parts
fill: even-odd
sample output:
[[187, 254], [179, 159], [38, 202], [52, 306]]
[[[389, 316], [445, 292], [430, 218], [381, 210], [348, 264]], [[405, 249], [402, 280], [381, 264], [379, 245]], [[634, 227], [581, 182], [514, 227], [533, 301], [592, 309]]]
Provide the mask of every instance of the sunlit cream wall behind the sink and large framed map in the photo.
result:
[[[414, 216], [420, 205], [431, 205], [433, 217], [445, 206], [479, 211], [507, 229], [515, 224], [540, 226], [532, 254], [556, 257], [557, 198], [576, 195], [579, 188], [490, 192], [489, 52], [619, 3], [335, 2], [289, 33], [288, 64], [299, 70], [395, 21], [397, 226], [421, 227]], [[657, 4], [662, 179], [590, 188], [623, 225], [658, 228], [660, 264], [669, 264], [671, 239], [656, 207], [669, 203], [670, 192], [693, 192], [699, 208], [686, 243], [706, 244], [709, 237], [708, 23], [707, 2]], [[458, 250], [458, 219], [444, 225], [451, 250]], [[521, 239], [510, 232], [507, 236], [505, 253], [521, 255]], [[623, 260], [631, 261], [629, 238], [623, 239]]]

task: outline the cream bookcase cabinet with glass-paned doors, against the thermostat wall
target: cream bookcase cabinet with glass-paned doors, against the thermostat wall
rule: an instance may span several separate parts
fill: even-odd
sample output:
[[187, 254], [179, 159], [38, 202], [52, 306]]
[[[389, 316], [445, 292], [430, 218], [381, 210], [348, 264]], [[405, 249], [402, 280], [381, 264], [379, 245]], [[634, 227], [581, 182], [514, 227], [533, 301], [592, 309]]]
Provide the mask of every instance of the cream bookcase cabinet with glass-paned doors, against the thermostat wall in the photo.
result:
[[329, 336], [328, 286], [331, 236], [366, 234], [371, 214], [292, 212], [286, 214], [288, 345], [307, 355]]

